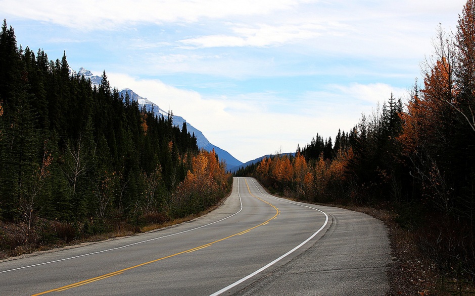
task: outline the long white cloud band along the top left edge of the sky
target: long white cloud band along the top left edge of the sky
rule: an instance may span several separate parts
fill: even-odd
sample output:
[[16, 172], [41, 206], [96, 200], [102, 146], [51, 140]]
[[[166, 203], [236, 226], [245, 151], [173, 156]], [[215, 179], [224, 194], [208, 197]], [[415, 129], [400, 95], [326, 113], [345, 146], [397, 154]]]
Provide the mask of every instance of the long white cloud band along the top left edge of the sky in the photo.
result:
[[[306, 1], [304, 1], [306, 2]], [[52, 22], [83, 30], [118, 29], [128, 23], [197, 22], [232, 16], [266, 15], [289, 10], [297, 0], [179, 1], [102, 0], [34, 1], [2, 0], [1, 11], [37, 21]]]

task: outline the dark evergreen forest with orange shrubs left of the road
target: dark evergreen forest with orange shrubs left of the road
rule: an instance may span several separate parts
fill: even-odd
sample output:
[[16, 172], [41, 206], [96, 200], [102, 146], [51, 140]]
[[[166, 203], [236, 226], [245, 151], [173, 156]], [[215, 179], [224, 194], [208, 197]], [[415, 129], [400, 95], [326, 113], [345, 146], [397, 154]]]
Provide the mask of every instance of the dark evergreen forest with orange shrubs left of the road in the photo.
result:
[[0, 258], [197, 214], [232, 177], [195, 135], [0, 33]]

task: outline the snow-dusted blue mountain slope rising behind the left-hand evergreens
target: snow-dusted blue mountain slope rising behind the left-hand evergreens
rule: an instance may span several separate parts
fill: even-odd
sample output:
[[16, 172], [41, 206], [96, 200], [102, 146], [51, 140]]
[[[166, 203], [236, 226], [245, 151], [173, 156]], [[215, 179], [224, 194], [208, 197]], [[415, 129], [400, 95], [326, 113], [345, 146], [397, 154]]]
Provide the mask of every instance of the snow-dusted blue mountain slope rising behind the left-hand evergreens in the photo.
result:
[[[97, 85], [99, 86], [102, 81], [102, 77], [100, 76], [94, 76], [89, 70], [86, 70], [84, 68], [79, 68], [79, 72], [74, 70], [70, 70], [71, 75], [82, 75], [84, 78], [88, 78], [92, 85]], [[130, 97], [131, 100], [137, 101], [140, 106], [145, 106], [147, 110], [151, 110], [153, 108], [155, 115], [158, 116], [164, 116], [165, 119], [168, 118], [168, 111], [165, 111], [161, 109], [158, 105], [154, 104], [152, 101], [148, 100], [147, 98], [141, 97], [138, 94], [134, 93], [131, 89], [125, 88], [119, 92], [125, 97], [125, 94], [128, 93], [128, 96]], [[178, 126], [180, 129], [183, 126], [183, 123], [185, 123], [186, 120], [183, 119], [183, 117], [178, 116], [173, 114], [173, 125]], [[194, 126], [186, 122], [186, 129], [190, 134], [195, 134], [197, 138], [197, 144], [198, 148], [200, 149], [205, 149], [207, 151], [211, 151], [214, 149], [214, 151], [218, 154], [220, 160], [224, 160], [226, 162], [226, 168], [229, 170], [231, 167], [239, 166], [243, 164], [243, 162], [237, 160], [234, 158], [229, 152], [226, 150], [223, 150], [213, 144], [211, 144], [208, 139], [203, 135], [201, 131], [196, 129]]]

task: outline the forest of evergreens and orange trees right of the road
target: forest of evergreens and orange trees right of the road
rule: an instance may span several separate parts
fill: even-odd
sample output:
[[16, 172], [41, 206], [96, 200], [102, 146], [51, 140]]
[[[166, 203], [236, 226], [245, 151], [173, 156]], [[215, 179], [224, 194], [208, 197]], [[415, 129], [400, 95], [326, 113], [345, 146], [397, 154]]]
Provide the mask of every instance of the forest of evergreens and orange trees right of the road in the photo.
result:
[[475, 280], [475, 2], [456, 32], [441, 27], [409, 99], [383, 105], [334, 141], [318, 134], [295, 156], [236, 175], [294, 199], [390, 209], [443, 272]]

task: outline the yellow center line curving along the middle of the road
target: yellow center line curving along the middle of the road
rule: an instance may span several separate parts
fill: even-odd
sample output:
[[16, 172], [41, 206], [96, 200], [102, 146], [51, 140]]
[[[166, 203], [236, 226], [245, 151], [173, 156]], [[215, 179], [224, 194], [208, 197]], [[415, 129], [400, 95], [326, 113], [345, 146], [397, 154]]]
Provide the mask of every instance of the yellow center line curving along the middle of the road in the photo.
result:
[[43, 294], [46, 294], [46, 293], [51, 293], [51, 292], [59, 292], [59, 291], [64, 291], [64, 290], [67, 290], [67, 289], [71, 289], [71, 288], [75, 288], [75, 287], [78, 287], [78, 286], [82, 286], [82, 285], [85, 285], [85, 284], [88, 284], [88, 283], [91, 283], [91, 282], [94, 282], [94, 281], [98, 281], [98, 280], [102, 280], [102, 279], [106, 279], [106, 278], [109, 278], [109, 277], [112, 277], [112, 276], [115, 276], [115, 275], [119, 275], [119, 274], [122, 274], [124, 273], [125, 271], [127, 270], [131, 270], [131, 269], [134, 269], [134, 268], [137, 268], [137, 267], [141, 267], [141, 266], [144, 266], [144, 265], [148, 265], [148, 264], [151, 264], [151, 263], [155, 263], [155, 262], [158, 262], [158, 261], [161, 261], [161, 260], [164, 260], [164, 259], [168, 259], [168, 258], [172, 258], [172, 257], [175, 257], [175, 256], [178, 256], [178, 255], [181, 255], [181, 254], [184, 254], [184, 253], [191, 253], [191, 252], [194, 252], [194, 251], [198, 251], [198, 250], [201, 250], [201, 249], [204, 249], [206, 247], [209, 247], [213, 244], [216, 244], [216, 243], [219, 243], [219, 242], [222, 242], [224, 240], [227, 240], [227, 239], [230, 239], [230, 238], [233, 238], [234, 236], [236, 235], [241, 235], [241, 234], [244, 234], [244, 233], [247, 233], [259, 226], [262, 226], [262, 225], [265, 225], [267, 223], [269, 223], [272, 219], [275, 219], [277, 217], [277, 215], [279, 214], [279, 209], [276, 208], [273, 204], [265, 201], [265, 200], [262, 200], [260, 198], [258, 198], [257, 196], [253, 195], [251, 193], [251, 189], [249, 188], [249, 185], [248, 185], [248, 182], [246, 181], [246, 179], [244, 180], [246, 182], [246, 186], [248, 187], [248, 191], [249, 191], [249, 194], [255, 198], [257, 198], [258, 200], [262, 201], [262, 202], [265, 202], [266, 204], [270, 205], [271, 207], [273, 207], [275, 209], [275, 215], [262, 222], [261, 224], [259, 225], [256, 225], [254, 227], [251, 227], [249, 229], [246, 229], [244, 231], [241, 231], [239, 233], [235, 233], [235, 234], [232, 234], [232, 235], [229, 235], [229, 236], [226, 236], [226, 238], [223, 238], [223, 239], [220, 239], [220, 240], [217, 240], [217, 241], [214, 241], [212, 243], [208, 243], [208, 244], [205, 244], [205, 245], [202, 245], [202, 246], [199, 246], [199, 247], [196, 247], [196, 248], [193, 248], [193, 249], [189, 249], [189, 250], [186, 250], [186, 251], [182, 251], [182, 252], [179, 252], [179, 253], [176, 253], [176, 254], [173, 254], [173, 255], [169, 255], [169, 256], [165, 256], [165, 257], [162, 257], [162, 258], [158, 258], [158, 259], [155, 259], [155, 260], [152, 260], [152, 261], [149, 261], [149, 262], [145, 262], [145, 263], [141, 263], [141, 264], [138, 264], [138, 265], [135, 265], [135, 266], [131, 266], [131, 267], [127, 267], [127, 268], [124, 268], [124, 269], [121, 269], [121, 270], [118, 270], [118, 271], [115, 271], [115, 272], [111, 272], [111, 273], [107, 273], [107, 274], [104, 274], [104, 275], [101, 275], [101, 276], [98, 276], [98, 277], [93, 277], [93, 278], [90, 278], [90, 279], [86, 279], [86, 280], [83, 280], [83, 281], [80, 281], [80, 282], [77, 282], [77, 283], [73, 283], [73, 284], [69, 284], [69, 285], [66, 285], [66, 286], [62, 286], [62, 287], [59, 287], [59, 288], [56, 288], [56, 289], [52, 289], [52, 290], [48, 290], [48, 291], [44, 291], [44, 292], [41, 292], [41, 293], [37, 293], [37, 294], [33, 294], [32, 296], [36, 296], [36, 295], [43, 295]]

